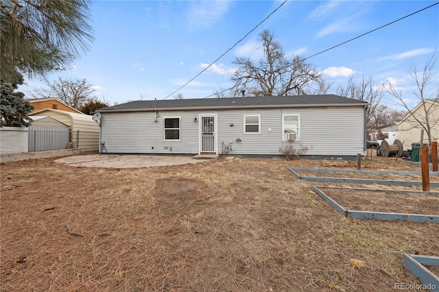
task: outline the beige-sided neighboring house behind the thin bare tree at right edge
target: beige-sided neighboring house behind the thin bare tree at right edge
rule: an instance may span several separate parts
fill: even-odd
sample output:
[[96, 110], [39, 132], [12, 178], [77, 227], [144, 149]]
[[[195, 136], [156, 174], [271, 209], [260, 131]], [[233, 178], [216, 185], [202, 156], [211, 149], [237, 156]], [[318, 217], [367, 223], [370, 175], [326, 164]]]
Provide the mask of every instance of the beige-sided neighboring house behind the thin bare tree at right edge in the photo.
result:
[[[439, 100], [425, 99], [412, 110], [412, 113], [408, 112], [398, 123], [398, 137], [400, 141], [404, 141], [404, 149], [412, 149], [412, 143], [420, 143], [420, 132], [423, 125], [425, 125], [426, 112], [428, 113], [432, 139], [439, 140]], [[428, 136], [425, 131], [423, 139], [423, 143], [428, 143]]]

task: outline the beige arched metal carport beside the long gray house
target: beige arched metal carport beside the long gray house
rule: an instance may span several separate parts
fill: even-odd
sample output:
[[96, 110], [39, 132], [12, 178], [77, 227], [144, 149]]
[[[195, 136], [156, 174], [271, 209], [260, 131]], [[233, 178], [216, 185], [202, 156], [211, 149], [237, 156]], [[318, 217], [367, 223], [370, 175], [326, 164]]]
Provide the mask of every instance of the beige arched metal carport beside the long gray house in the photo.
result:
[[99, 149], [99, 123], [93, 120], [88, 114], [66, 112], [64, 110], [45, 109], [29, 114], [34, 117], [51, 117], [60, 123], [69, 126], [69, 142], [73, 148], [80, 148], [87, 151]]

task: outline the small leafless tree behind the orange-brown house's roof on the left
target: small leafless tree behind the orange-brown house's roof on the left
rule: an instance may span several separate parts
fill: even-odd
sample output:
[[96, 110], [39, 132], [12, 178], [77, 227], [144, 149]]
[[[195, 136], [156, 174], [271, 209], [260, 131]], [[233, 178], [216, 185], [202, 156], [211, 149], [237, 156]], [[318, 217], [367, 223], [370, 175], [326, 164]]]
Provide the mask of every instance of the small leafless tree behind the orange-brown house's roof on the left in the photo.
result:
[[34, 98], [57, 98], [64, 104], [80, 110], [88, 101], [97, 100], [93, 95], [95, 89], [85, 79], [83, 80], [63, 80], [58, 77], [58, 81], [47, 83], [49, 88], [37, 88], [30, 95]]

